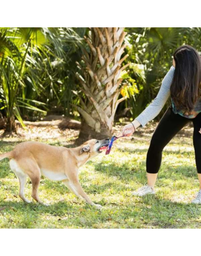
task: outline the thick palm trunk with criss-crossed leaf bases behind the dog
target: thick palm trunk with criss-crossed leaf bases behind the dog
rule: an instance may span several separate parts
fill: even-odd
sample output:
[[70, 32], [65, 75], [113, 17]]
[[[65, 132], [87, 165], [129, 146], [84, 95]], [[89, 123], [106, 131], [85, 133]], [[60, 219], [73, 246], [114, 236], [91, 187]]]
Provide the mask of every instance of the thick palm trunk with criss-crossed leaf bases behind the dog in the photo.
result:
[[[80, 91], [80, 106], [76, 106], [82, 117], [78, 140], [91, 137], [101, 139], [112, 135], [114, 115], [120, 102], [119, 98], [123, 77], [121, 72], [129, 63], [122, 65], [128, 55], [121, 58], [126, 44], [123, 27], [90, 28], [85, 37], [89, 51], [83, 49], [83, 64], [78, 63], [77, 78]], [[74, 105], [75, 106], [75, 105]]]

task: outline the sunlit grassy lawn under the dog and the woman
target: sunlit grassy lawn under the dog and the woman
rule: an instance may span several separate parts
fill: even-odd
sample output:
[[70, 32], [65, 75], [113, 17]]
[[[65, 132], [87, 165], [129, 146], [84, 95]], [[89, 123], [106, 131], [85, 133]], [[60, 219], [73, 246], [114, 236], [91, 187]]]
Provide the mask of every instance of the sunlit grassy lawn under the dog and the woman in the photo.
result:
[[[76, 198], [61, 182], [42, 177], [39, 195], [50, 206], [26, 204], [18, 196], [19, 182], [8, 160], [0, 162], [0, 228], [199, 228], [201, 206], [190, 204], [199, 184], [192, 145], [192, 128], [182, 130], [166, 147], [156, 183], [156, 195], [138, 198], [131, 192], [146, 182], [145, 159], [156, 124], [139, 129], [132, 138], [117, 140], [109, 155], [101, 153], [80, 169], [80, 182], [103, 208], [94, 209]], [[117, 126], [116, 129], [119, 127]], [[28, 130], [35, 137], [3, 139], [0, 152], [21, 140], [70, 146], [78, 132]], [[53, 139], [55, 138], [55, 139]], [[25, 195], [31, 199], [31, 182]]]

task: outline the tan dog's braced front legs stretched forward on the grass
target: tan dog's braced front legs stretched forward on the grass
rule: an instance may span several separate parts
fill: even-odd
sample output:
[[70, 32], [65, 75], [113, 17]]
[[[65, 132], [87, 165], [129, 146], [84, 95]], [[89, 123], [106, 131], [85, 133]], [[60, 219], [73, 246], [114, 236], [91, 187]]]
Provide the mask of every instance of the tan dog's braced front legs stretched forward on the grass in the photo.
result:
[[100, 204], [95, 204], [91, 201], [88, 195], [83, 190], [82, 186], [78, 182], [78, 180], [70, 181], [64, 180], [64, 185], [66, 185], [77, 197], [83, 198], [89, 205], [95, 206], [96, 208], [100, 209], [102, 206]]

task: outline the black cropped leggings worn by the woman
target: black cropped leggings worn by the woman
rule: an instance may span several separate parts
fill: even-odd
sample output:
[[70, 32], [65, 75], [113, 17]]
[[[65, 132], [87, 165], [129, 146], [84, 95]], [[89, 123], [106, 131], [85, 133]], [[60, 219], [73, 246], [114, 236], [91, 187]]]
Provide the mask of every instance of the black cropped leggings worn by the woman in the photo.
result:
[[175, 114], [169, 106], [166, 113], [158, 123], [152, 136], [146, 156], [146, 172], [149, 174], [158, 173], [162, 160], [162, 151], [169, 141], [190, 121], [193, 122], [193, 146], [195, 150], [195, 162], [197, 171], [201, 174], [201, 113], [195, 118], [186, 118]]

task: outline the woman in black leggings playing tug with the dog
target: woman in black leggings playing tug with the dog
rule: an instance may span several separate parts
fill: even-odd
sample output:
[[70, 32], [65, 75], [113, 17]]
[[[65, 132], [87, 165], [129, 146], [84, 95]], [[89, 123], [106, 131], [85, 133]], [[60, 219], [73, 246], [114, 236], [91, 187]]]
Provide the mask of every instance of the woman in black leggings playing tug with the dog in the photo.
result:
[[195, 161], [200, 182], [199, 193], [192, 203], [201, 204], [201, 58], [198, 52], [188, 45], [179, 47], [173, 57], [173, 66], [163, 79], [154, 101], [132, 123], [123, 128], [124, 134], [132, 135], [140, 125], [144, 127], [154, 119], [168, 97], [171, 97], [172, 104], [158, 123], [147, 152], [147, 186], [141, 187], [133, 195], [155, 193], [154, 186], [164, 147], [179, 130], [192, 121]]

